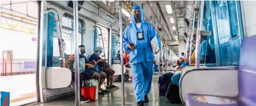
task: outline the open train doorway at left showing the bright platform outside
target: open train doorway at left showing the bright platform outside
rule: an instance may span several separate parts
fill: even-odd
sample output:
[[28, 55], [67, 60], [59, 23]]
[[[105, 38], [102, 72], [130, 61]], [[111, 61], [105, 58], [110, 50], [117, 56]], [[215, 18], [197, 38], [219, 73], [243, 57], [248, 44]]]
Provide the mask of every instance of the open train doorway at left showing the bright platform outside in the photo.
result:
[[38, 7], [37, 1], [1, 1], [0, 86], [10, 105], [37, 101]]

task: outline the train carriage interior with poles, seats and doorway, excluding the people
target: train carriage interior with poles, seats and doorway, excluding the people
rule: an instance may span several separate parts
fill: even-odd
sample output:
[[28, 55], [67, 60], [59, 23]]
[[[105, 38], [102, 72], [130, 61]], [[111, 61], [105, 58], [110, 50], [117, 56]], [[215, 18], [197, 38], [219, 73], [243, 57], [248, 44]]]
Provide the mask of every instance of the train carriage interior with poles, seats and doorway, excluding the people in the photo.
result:
[[[0, 4], [1, 106], [137, 105], [122, 42], [127, 26], [133, 23], [135, 5], [141, 6], [144, 20], [153, 25], [161, 40], [161, 51], [154, 55], [149, 102], [144, 105], [256, 105], [255, 1]], [[97, 85], [96, 100], [88, 103], [78, 100], [78, 65], [73, 70], [65, 67], [70, 56], [78, 56], [79, 45], [85, 46], [88, 60], [97, 47], [103, 49], [100, 57], [115, 71], [112, 85], [118, 86], [108, 89], [108, 79], [101, 86], [90, 79]], [[167, 73], [180, 73], [175, 93], [179, 103], [171, 103], [165, 93], [160, 95], [160, 79]], [[82, 85], [86, 86], [86, 81]], [[99, 89], [110, 92], [102, 94]]]

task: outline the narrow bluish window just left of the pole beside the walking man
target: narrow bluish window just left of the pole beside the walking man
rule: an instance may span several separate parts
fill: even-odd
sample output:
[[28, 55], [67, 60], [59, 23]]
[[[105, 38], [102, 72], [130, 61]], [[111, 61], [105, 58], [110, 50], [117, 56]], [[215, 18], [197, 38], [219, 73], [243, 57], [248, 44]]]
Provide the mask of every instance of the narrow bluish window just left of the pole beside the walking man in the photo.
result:
[[112, 35], [112, 56], [111, 62], [112, 64], [119, 64], [120, 63], [120, 55], [117, 53], [120, 52], [120, 36], [119, 35]]

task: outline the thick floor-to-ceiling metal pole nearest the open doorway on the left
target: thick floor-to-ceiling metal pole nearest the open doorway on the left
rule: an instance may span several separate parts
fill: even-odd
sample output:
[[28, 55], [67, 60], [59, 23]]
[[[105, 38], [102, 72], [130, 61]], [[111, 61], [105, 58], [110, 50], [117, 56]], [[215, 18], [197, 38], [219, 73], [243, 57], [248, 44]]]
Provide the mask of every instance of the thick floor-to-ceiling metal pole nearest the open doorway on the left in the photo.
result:
[[73, 1], [74, 40], [75, 40], [75, 91], [76, 106], [80, 106], [80, 73], [79, 73], [79, 48], [78, 48], [78, 1]]

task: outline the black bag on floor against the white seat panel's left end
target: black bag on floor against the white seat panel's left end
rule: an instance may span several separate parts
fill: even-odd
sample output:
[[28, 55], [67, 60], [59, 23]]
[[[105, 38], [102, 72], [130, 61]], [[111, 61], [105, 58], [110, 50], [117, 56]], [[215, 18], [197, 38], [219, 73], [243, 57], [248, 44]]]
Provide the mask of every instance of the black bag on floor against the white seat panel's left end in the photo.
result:
[[166, 97], [170, 103], [182, 103], [179, 98], [179, 86], [169, 83]]

